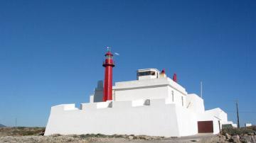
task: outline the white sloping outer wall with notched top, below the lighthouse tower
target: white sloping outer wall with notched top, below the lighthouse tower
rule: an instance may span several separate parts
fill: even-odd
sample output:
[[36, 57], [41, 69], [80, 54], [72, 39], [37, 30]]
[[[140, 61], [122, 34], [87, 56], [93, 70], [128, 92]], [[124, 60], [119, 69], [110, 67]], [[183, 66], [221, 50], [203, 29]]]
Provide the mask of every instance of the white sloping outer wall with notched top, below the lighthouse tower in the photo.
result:
[[[84, 103], [82, 110], [71, 105], [53, 106], [45, 135], [97, 134], [151, 135], [180, 137], [195, 135], [196, 118], [193, 113], [165, 99], [151, 100], [150, 105], [132, 106], [132, 101]], [[66, 107], [69, 110], [65, 110]]]

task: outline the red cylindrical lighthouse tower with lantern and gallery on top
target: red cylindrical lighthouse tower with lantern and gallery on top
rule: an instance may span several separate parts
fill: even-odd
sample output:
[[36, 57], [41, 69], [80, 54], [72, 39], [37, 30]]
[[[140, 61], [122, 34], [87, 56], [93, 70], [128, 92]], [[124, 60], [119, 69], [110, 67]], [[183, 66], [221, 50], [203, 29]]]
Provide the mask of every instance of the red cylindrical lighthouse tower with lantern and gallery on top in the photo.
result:
[[103, 91], [103, 101], [112, 100], [112, 68], [114, 67], [113, 55], [110, 51], [105, 54], [105, 62], [103, 62], [103, 67], [105, 67], [105, 79], [104, 79], [104, 91]]

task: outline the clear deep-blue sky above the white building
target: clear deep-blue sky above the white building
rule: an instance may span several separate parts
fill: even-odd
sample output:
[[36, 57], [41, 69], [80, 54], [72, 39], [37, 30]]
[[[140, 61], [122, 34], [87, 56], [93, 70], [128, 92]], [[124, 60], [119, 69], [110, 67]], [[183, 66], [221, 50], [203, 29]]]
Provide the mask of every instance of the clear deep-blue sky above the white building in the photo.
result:
[[[50, 107], [85, 103], [112, 47], [114, 81], [176, 73], [206, 109], [256, 124], [256, 1], [0, 1], [0, 123], [46, 126]], [[104, 120], [104, 119], [102, 119]]]

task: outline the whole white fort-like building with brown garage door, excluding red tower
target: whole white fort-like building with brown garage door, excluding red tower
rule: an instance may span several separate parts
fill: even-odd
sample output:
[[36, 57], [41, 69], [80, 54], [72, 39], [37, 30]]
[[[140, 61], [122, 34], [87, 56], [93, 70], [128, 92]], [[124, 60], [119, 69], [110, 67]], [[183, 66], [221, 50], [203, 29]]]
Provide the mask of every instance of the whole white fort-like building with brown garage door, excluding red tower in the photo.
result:
[[150, 135], [181, 137], [217, 134], [228, 122], [220, 108], [205, 110], [203, 99], [157, 69], [139, 69], [137, 80], [117, 82], [112, 101], [102, 102], [102, 81], [90, 103], [55, 105], [45, 135]]

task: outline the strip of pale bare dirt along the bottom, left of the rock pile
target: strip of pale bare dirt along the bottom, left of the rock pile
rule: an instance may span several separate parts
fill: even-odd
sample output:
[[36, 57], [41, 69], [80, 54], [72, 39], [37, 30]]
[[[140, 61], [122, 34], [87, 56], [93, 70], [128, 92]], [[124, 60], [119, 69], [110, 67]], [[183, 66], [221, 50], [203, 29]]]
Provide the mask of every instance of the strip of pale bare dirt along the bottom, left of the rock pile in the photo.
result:
[[150, 143], [161, 143], [161, 142], [170, 142], [170, 143], [181, 143], [181, 142], [218, 142], [218, 136], [215, 135], [204, 135], [204, 136], [193, 136], [193, 137], [179, 137], [179, 138], [166, 138], [166, 139], [127, 139], [127, 138], [110, 138], [110, 137], [88, 137], [86, 139], [74, 138], [70, 136], [59, 136], [59, 137], [44, 137], [44, 136], [5, 136], [0, 137], [0, 142], [21, 142], [21, 143], [32, 143], [32, 142], [120, 142], [120, 143], [141, 143], [141, 142], [150, 142]]

